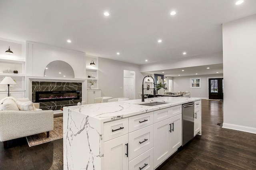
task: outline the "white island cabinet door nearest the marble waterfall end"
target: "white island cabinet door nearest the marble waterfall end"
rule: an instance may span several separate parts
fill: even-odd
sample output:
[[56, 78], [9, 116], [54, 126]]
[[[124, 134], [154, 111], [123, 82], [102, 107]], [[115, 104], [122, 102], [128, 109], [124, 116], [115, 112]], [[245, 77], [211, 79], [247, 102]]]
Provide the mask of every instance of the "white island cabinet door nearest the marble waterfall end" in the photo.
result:
[[104, 142], [104, 170], [128, 170], [128, 134]]

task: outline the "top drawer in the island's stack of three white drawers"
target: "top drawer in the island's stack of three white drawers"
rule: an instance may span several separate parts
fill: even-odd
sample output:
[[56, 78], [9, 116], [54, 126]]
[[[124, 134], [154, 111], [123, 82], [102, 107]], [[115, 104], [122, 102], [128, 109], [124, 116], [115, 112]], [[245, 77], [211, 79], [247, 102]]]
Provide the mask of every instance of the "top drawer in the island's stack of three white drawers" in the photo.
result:
[[153, 119], [153, 111], [129, 117], [129, 132], [133, 132], [143, 127], [152, 125], [154, 121]]

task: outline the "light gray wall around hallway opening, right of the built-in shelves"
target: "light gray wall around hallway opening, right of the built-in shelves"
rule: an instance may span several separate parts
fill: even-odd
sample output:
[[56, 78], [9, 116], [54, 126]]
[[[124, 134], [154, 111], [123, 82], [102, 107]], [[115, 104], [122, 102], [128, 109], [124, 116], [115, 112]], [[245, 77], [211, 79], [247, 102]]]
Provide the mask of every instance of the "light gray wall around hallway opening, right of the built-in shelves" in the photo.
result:
[[135, 98], [139, 98], [138, 92], [142, 92], [142, 79], [144, 77], [140, 73], [140, 65], [99, 57], [101, 96], [124, 97], [124, 70], [135, 71]]

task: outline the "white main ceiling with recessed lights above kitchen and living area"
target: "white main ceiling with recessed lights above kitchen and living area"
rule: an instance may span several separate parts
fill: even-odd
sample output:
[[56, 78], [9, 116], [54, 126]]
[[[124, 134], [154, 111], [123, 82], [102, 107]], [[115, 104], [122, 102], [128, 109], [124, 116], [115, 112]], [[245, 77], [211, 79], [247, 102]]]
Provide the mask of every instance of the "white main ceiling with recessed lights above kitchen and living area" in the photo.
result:
[[222, 23], [256, 14], [256, 0], [236, 1], [0, 0], [0, 37], [136, 64], [171, 61], [221, 52]]

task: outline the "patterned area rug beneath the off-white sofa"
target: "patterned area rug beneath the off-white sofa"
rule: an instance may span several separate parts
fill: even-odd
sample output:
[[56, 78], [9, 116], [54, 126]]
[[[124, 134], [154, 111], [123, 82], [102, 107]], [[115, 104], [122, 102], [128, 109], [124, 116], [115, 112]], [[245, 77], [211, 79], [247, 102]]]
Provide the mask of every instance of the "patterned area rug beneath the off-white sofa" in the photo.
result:
[[63, 138], [63, 117], [54, 117], [54, 127], [50, 131], [50, 136], [46, 137], [46, 132], [27, 136], [28, 146], [32, 147], [42, 143], [54, 141]]

